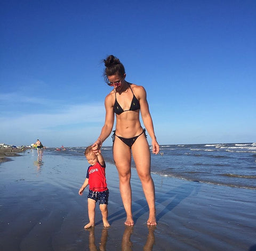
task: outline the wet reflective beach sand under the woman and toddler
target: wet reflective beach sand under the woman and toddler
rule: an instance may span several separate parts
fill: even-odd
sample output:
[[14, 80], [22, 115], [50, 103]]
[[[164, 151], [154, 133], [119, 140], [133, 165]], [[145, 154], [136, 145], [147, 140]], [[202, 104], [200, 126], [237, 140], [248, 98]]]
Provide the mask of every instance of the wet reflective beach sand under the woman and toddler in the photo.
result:
[[214, 186], [153, 174], [157, 226], [146, 224], [148, 208], [132, 170], [135, 225], [125, 212], [114, 165], [107, 163], [109, 228], [85, 230], [87, 190], [78, 195], [87, 162], [36, 150], [0, 164], [0, 250], [256, 250], [255, 190]]

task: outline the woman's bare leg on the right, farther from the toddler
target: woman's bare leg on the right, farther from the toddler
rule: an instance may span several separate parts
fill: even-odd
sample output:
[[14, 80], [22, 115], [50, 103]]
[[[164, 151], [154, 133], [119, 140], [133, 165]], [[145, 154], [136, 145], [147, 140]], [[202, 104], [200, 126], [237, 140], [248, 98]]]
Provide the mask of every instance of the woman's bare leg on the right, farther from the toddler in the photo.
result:
[[147, 224], [156, 225], [155, 186], [150, 173], [150, 150], [145, 135], [138, 137], [133, 144], [132, 156], [149, 207]]

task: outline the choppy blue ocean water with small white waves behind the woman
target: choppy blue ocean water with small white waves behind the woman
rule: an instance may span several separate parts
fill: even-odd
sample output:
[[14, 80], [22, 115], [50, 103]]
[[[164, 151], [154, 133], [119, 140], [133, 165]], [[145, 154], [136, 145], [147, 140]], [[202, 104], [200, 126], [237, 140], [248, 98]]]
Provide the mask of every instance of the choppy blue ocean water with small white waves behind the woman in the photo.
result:
[[[45, 154], [64, 154], [84, 159], [84, 147], [66, 151], [46, 149]], [[114, 164], [112, 147], [102, 147], [106, 162]], [[87, 165], [87, 162], [85, 162]], [[132, 168], [135, 168], [132, 162]], [[256, 189], [256, 143], [161, 145], [159, 154], [151, 154], [151, 172], [215, 185]]]

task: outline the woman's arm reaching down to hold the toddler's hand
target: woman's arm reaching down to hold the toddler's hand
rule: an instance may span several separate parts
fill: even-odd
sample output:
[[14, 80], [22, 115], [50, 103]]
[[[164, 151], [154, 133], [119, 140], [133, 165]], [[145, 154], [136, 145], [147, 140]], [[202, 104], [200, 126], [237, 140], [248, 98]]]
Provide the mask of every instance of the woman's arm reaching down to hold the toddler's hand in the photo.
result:
[[113, 129], [115, 114], [113, 109], [112, 98], [113, 96], [111, 93], [108, 94], [107, 97], [105, 98], [105, 109], [106, 109], [105, 123], [101, 129], [99, 138], [92, 145], [94, 153], [97, 153], [99, 151], [99, 149], [102, 146], [102, 143], [108, 138], [108, 136], [111, 133], [111, 130]]

